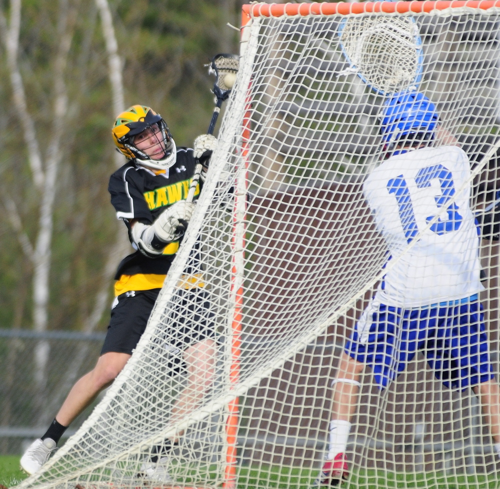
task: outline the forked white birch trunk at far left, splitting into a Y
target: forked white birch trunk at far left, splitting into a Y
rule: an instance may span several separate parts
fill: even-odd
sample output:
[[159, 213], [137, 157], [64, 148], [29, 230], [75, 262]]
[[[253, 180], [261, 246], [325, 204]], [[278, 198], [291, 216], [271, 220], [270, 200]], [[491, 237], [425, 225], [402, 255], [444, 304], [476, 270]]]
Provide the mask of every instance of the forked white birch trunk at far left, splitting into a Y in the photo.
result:
[[[28, 112], [22, 77], [18, 67], [19, 27], [21, 19], [20, 0], [10, 3], [10, 22], [0, 18], [2, 40], [7, 52], [7, 62], [10, 71], [10, 82], [14, 104], [24, 129], [24, 142], [28, 148], [31, 175], [34, 186], [40, 193], [40, 208], [38, 229], [34, 246], [26, 245], [26, 234], [19, 224], [20, 239], [24, 243], [24, 251], [29, 252], [33, 265], [33, 329], [37, 332], [47, 329], [47, 305], [49, 298], [50, 252], [53, 230], [53, 205], [55, 197], [57, 170], [61, 160], [60, 140], [63, 132], [64, 117], [67, 110], [67, 95], [64, 83], [64, 72], [74, 26], [75, 10], [66, 0], [60, 2], [57, 33], [60, 36], [59, 49], [54, 61], [53, 78], [53, 127], [51, 139], [47, 148], [45, 164], [40, 154], [34, 123]], [[14, 206], [13, 200], [9, 206]], [[11, 209], [18, 216], [15, 209]], [[19, 221], [19, 219], [17, 218]], [[28, 242], [29, 243], [29, 242]], [[35, 399], [43, 406], [47, 382], [47, 360], [49, 344], [47, 341], [37, 343], [34, 351]], [[39, 411], [40, 412], [40, 411]]]

